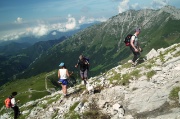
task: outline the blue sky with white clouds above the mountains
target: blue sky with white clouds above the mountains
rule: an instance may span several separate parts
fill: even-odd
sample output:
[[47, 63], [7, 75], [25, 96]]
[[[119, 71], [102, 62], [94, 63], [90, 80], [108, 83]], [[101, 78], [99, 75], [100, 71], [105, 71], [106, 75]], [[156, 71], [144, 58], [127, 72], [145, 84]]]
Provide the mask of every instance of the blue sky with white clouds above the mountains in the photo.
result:
[[41, 37], [67, 32], [80, 25], [104, 22], [129, 9], [159, 9], [179, 0], [1, 0], [0, 40]]

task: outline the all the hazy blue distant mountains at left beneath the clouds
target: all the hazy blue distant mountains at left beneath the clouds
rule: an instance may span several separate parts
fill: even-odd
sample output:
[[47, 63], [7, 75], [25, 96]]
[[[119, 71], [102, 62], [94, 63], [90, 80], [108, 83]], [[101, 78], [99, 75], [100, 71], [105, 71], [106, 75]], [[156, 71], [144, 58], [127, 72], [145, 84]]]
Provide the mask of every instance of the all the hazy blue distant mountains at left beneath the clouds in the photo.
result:
[[[49, 48], [67, 39], [71, 35], [87, 28], [88, 26], [97, 24], [90, 23], [81, 25], [79, 29], [69, 32], [56, 32], [56, 37], [52, 36], [52, 32], [41, 38], [24, 37], [19, 40], [1, 42], [0, 44], [0, 85], [14, 79], [18, 74], [35, 62]], [[50, 40], [52, 39], [52, 40]]]

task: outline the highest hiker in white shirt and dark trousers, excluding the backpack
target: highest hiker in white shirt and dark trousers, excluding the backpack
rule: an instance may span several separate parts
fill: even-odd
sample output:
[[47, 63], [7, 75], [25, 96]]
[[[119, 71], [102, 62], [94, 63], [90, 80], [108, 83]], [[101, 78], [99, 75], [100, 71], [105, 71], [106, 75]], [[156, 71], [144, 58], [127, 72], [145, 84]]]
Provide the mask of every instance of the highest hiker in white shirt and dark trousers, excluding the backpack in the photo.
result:
[[136, 28], [134, 35], [132, 35], [130, 40], [130, 49], [134, 55], [132, 59], [132, 66], [135, 66], [137, 64], [137, 59], [140, 57], [140, 52], [142, 49], [139, 46], [138, 43], [138, 35], [140, 34], [140, 29]]

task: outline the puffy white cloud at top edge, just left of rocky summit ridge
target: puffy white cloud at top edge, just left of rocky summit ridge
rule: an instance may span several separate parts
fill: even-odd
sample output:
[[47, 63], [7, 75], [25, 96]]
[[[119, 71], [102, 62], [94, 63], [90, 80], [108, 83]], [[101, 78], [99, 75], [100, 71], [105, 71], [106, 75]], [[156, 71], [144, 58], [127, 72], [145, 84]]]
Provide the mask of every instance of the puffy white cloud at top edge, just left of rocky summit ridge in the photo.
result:
[[128, 3], [129, 3], [129, 0], [123, 0], [122, 2], [120, 2], [119, 6], [118, 6], [118, 12], [122, 13], [122, 12], [128, 10], [129, 9]]

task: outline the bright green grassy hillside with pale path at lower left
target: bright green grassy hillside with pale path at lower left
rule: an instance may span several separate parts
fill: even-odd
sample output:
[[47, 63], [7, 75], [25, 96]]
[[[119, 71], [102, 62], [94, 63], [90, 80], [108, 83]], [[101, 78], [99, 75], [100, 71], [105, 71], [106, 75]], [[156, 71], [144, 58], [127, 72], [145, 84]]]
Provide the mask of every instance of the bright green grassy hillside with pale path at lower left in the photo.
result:
[[[48, 95], [49, 92], [47, 92], [45, 89], [45, 77], [46, 73], [43, 73], [34, 77], [30, 77], [28, 79], [17, 79], [4, 84], [0, 87], [0, 107], [4, 105], [5, 98], [9, 97], [9, 95], [13, 91], [18, 92], [16, 98], [20, 100], [20, 104], [24, 104], [28, 101], [32, 101], [38, 98], [42, 98], [45, 95]], [[47, 80], [47, 85], [48, 88], [54, 88], [54, 86], [51, 83], [51, 80]], [[32, 92], [30, 90], [32, 90]], [[33, 90], [42, 92], [36, 92]]]

